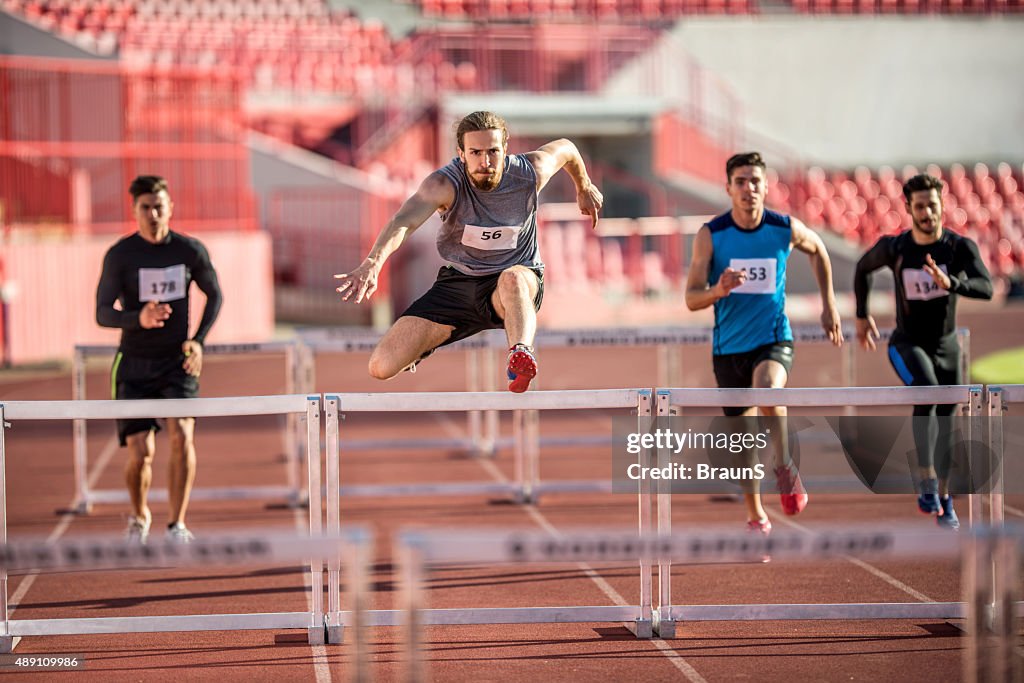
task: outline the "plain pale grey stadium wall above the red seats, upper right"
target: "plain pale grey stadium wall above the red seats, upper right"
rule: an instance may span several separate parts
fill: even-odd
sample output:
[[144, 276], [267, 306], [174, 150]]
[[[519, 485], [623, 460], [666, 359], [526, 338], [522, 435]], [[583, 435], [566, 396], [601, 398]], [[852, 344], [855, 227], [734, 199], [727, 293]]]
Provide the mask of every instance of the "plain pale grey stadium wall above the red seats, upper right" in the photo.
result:
[[682, 45], [807, 163], [899, 168], [1024, 158], [1022, 36], [1021, 16], [766, 14], [687, 18], [657, 49]]

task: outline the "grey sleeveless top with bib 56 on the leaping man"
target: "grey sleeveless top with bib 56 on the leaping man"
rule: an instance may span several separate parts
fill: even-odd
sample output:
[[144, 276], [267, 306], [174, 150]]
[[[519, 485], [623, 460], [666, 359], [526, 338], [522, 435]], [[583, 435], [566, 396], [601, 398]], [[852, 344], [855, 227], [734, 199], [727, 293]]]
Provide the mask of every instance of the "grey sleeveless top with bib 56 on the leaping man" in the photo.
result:
[[441, 214], [437, 252], [467, 275], [513, 265], [544, 269], [537, 246], [537, 172], [525, 155], [505, 158], [502, 181], [489, 193], [473, 186], [458, 157], [439, 169], [455, 185]]

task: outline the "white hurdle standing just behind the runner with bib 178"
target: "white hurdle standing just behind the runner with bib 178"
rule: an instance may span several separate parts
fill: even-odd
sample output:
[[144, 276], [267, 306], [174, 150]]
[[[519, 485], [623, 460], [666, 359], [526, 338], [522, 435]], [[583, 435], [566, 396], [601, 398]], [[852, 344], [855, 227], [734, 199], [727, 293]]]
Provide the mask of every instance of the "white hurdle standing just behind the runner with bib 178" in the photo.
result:
[[[79, 345], [75, 347], [74, 359], [72, 361], [72, 398], [75, 400], [85, 400], [86, 395], [86, 370], [87, 360], [96, 356], [113, 356], [118, 351], [116, 346], [87, 346]], [[295, 342], [260, 342], [251, 344], [210, 344], [203, 347], [204, 355], [284, 355], [285, 357], [285, 393], [295, 394], [297, 392], [308, 392], [310, 389], [304, 388], [305, 382], [301, 373], [303, 367], [299, 356], [300, 349]], [[105, 417], [105, 416], [103, 416]], [[284, 432], [283, 447], [285, 451], [285, 466], [288, 473], [287, 486], [271, 486], [259, 488], [205, 488], [197, 487], [193, 490], [191, 498], [196, 501], [219, 500], [219, 499], [262, 499], [262, 498], [283, 498], [290, 505], [300, 506], [306, 503], [306, 493], [303, 490], [302, 482], [302, 459], [304, 456], [304, 434], [300, 416], [287, 414], [285, 416], [286, 430]], [[100, 489], [89, 488], [89, 455], [87, 427], [85, 420], [74, 421], [74, 463], [75, 463], [75, 504], [74, 509], [80, 514], [89, 514], [94, 503], [125, 503], [128, 501], [128, 494], [122, 489]], [[153, 500], [166, 500], [165, 492], [154, 492]]]

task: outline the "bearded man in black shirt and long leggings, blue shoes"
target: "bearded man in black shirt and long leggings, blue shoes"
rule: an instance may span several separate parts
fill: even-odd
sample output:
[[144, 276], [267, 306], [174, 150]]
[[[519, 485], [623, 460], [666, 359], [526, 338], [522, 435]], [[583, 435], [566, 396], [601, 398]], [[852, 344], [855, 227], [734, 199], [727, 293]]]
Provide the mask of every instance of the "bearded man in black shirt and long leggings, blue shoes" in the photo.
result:
[[[910, 386], [961, 384], [956, 341], [956, 299], [991, 299], [992, 282], [970, 239], [942, 228], [942, 181], [915, 175], [903, 185], [913, 227], [885, 237], [857, 263], [853, 290], [857, 297], [857, 339], [874, 349], [879, 330], [867, 312], [871, 273], [888, 266], [896, 281], [896, 330], [889, 341], [889, 360]], [[918, 507], [938, 514], [938, 522], [958, 528], [949, 496], [952, 404], [914, 405], [913, 437], [921, 467]], [[939, 419], [940, 416], [942, 419]], [[938, 446], [938, 447], [936, 447]]]

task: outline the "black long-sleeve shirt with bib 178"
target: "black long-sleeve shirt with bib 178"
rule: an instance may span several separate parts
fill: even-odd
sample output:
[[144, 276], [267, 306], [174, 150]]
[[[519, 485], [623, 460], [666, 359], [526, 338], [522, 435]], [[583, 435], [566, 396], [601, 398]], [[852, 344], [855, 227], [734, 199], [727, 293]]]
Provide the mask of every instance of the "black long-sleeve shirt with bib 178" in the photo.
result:
[[[191, 339], [203, 344], [223, 297], [210, 255], [199, 240], [170, 232], [160, 244], [130, 234], [111, 247], [96, 288], [96, 323], [121, 329], [120, 350], [126, 355], [167, 357], [181, 352], [188, 337], [189, 286], [206, 294], [206, 307]], [[147, 301], [168, 303], [171, 316], [162, 328], [143, 329], [139, 311]], [[121, 302], [121, 310], [114, 302]]]

